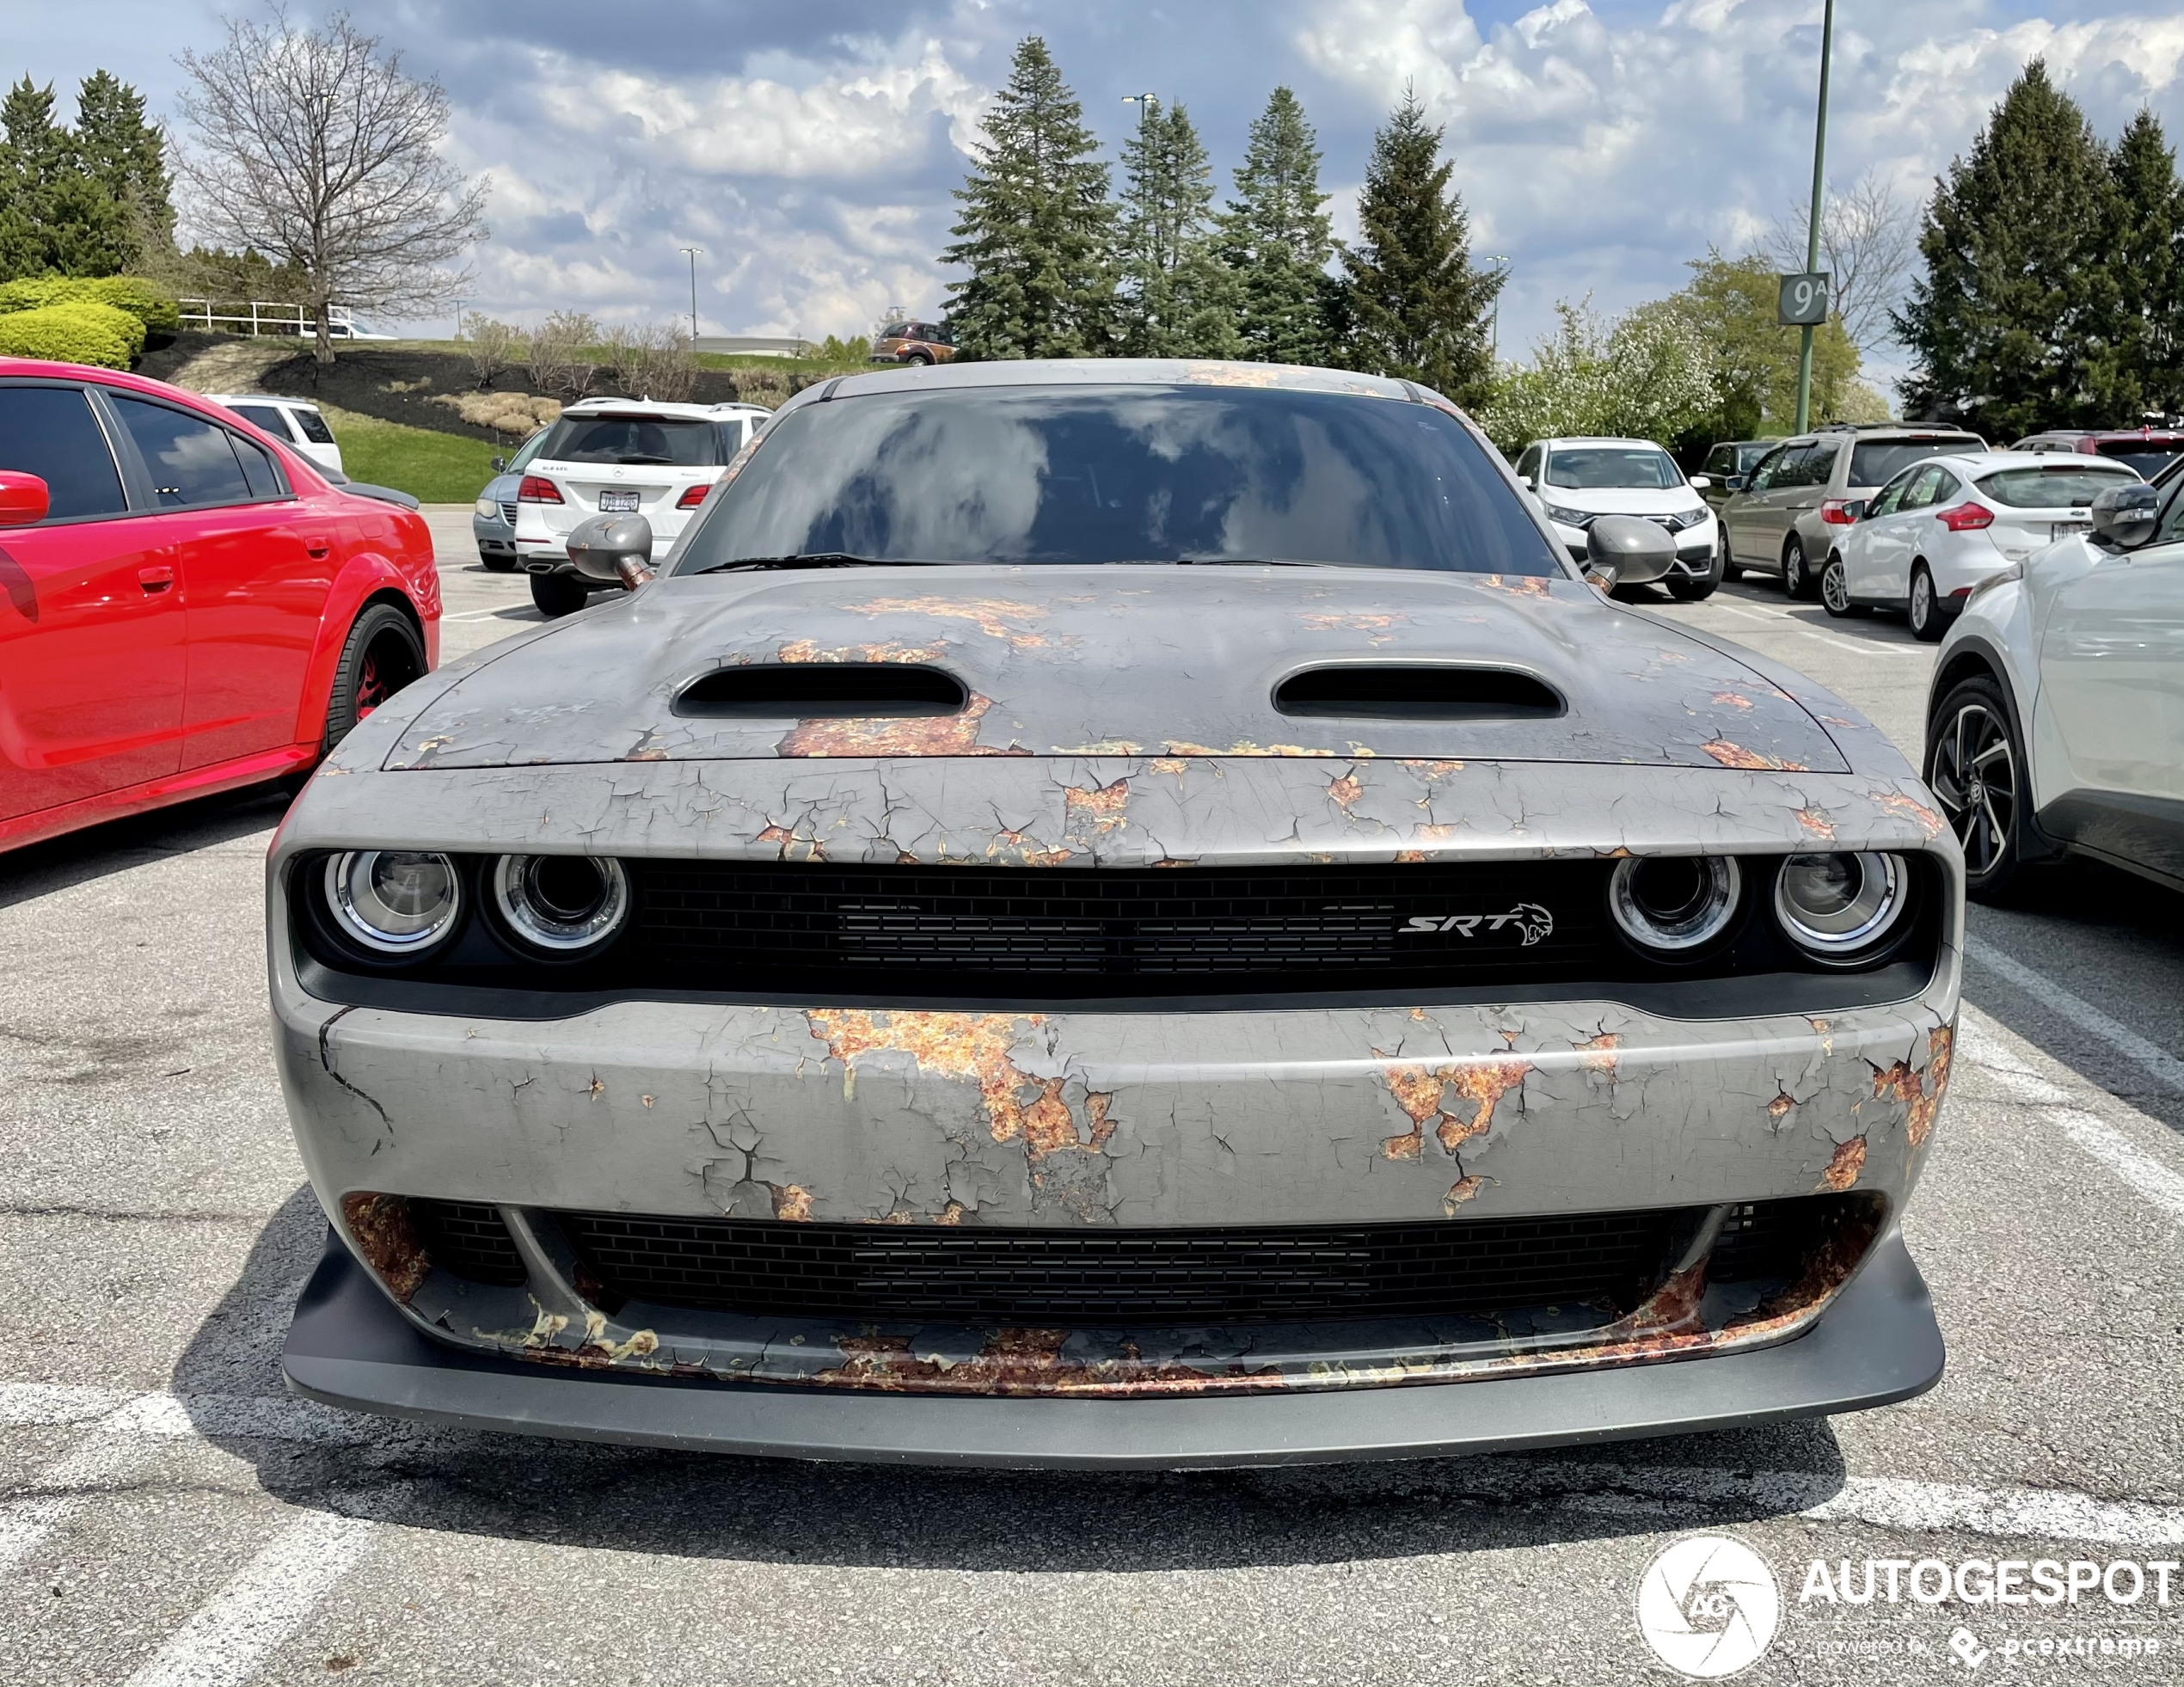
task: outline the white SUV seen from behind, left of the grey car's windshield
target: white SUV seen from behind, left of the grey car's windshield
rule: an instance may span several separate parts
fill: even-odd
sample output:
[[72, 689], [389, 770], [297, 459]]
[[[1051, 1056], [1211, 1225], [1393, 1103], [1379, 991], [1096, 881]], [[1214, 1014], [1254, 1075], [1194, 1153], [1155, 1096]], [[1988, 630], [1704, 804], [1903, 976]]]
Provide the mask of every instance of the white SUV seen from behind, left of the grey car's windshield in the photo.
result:
[[587, 583], [568, 559], [592, 516], [644, 516], [664, 557], [736, 452], [771, 411], [758, 404], [655, 404], [585, 398], [561, 411], [515, 489], [515, 559], [539, 614], [574, 614]]

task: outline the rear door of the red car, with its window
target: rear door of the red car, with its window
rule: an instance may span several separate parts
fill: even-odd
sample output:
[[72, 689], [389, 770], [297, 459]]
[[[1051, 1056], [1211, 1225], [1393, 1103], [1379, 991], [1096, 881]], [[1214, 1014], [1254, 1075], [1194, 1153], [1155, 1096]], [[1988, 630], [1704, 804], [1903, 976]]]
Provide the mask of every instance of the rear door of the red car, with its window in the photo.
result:
[[120, 391], [107, 400], [151, 474], [181, 575], [181, 765], [295, 743], [341, 518], [297, 498], [253, 439], [179, 404]]

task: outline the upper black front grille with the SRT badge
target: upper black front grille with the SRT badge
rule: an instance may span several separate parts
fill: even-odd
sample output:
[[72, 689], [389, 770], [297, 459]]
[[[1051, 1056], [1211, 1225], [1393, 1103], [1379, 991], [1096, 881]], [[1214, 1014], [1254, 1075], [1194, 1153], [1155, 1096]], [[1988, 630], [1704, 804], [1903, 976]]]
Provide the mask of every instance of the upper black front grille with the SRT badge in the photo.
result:
[[1245, 870], [836, 870], [646, 863], [638, 966], [686, 986], [795, 979], [1280, 990], [1601, 977], [1607, 863]]

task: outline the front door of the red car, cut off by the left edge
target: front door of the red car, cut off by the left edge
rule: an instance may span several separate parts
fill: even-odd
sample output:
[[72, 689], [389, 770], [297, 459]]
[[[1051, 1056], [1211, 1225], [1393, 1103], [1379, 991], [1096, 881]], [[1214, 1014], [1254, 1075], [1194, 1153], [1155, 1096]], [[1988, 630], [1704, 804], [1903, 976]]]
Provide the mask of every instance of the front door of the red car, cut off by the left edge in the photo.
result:
[[159, 520], [131, 511], [72, 382], [0, 382], [0, 468], [46, 483], [46, 520], [0, 529], [0, 819], [173, 774], [181, 592]]

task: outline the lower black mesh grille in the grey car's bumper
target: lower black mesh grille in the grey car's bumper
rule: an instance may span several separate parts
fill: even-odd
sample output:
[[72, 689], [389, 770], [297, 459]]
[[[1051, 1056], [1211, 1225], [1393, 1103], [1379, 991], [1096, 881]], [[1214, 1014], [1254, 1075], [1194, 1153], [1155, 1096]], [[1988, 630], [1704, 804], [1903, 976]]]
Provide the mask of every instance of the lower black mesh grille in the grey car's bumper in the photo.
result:
[[664, 1307], [992, 1324], [1197, 1324], [1636, 1307], [1690, 1208], [1295, 1230], [983, 1230], [563, 1213], [592, 1274]]

